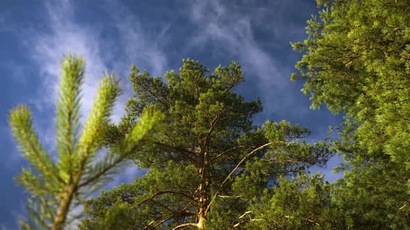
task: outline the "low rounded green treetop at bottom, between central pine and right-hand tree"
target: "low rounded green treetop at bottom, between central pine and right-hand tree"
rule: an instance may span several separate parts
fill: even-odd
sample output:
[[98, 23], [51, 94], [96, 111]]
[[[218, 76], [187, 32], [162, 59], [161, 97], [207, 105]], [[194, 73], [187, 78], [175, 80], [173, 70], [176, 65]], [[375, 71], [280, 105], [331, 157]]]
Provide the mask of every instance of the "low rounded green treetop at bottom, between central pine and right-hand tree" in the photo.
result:
[[[261, 195], [252, 206], [254, 219], [247, 229], [345, 229], [339, 220], [340, 210], [331, 201], [331, 184], [323, 176], [306, 174], [286, 179]], [[249, 214], [251, 214], [249, 212]], [[245, 218], [243, 218], [245, 219]], [[245, 219], [246, 220], [246, 219]]]

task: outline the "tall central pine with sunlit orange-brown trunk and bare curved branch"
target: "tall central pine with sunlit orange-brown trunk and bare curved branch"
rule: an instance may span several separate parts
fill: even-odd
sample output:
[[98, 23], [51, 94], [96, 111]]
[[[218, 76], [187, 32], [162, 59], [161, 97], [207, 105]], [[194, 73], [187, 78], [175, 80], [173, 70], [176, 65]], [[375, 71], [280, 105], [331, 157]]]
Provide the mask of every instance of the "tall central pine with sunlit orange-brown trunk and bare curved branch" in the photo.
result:
[[285, 121], [252, 124], [261, 102], [246, 102], [233, 91], [244, 79], [238, 64], [208, 72], [183, 60], [179, 73], [168, 71], [163, 81], [132, 67], [135, 94], [106, 144], [121, 141], [146, 107], [161, 110], [161, 128], [132, 155], [149, 170], [88, 202], [80, 229], [242, 228], [254, 221], [244, 222], [246, 213], [261, 194], [272, 194], [279, 176], [331, 156], [325, 143], [301, 141], [310, 134], [306, 128]]

